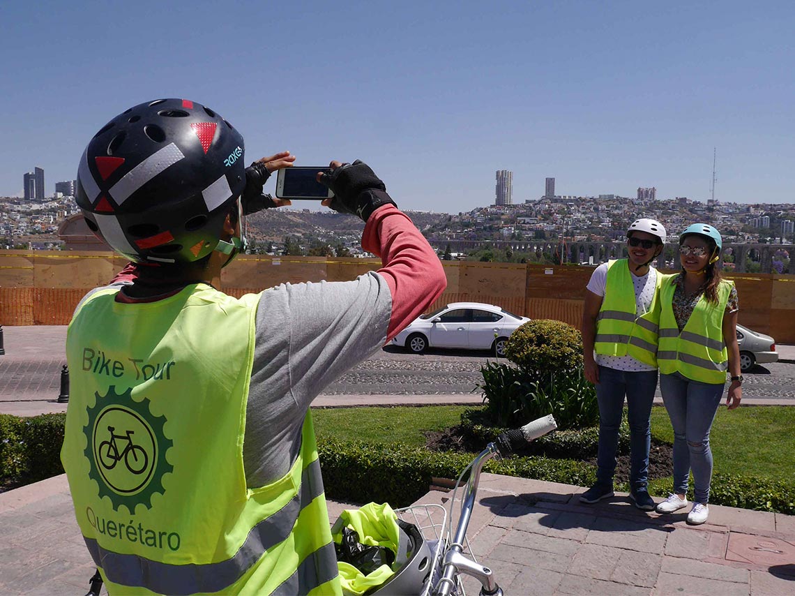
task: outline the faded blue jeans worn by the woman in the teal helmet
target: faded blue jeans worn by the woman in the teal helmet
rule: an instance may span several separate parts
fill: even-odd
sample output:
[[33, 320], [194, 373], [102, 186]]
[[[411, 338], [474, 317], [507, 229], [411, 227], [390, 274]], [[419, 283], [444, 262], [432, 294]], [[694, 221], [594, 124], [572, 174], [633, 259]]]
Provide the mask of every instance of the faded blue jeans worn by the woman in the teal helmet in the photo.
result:
[[678, 372], [660, 375], [660, 391], [673, 427], [673, 491], [686, 494], [693, 473], [693, 501], [707, 504], [712, 480], [709, 430], [723, 383], [699, 383]]

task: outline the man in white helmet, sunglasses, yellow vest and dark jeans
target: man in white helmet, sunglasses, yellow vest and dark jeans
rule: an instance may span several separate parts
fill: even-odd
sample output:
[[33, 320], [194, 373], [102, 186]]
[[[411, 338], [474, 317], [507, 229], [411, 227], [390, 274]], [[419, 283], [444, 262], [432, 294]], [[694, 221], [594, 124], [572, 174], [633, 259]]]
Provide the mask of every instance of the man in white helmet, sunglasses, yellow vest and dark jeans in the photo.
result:
[[657, 389], [658, 299], [662, 275], [650, 267], [665, 246], [657, 220], [635, 220], [626, 231], [626, 259], [596, 267], [585, 292], [583, 349], [585, 378], [599, 400], [596, 484], [580, 496], [596, 503], [613, 496], [615, 455], [624, 398], [630, 424], [630, 498], [644, 511], [654, 508], [649, 481], [650, 415]]

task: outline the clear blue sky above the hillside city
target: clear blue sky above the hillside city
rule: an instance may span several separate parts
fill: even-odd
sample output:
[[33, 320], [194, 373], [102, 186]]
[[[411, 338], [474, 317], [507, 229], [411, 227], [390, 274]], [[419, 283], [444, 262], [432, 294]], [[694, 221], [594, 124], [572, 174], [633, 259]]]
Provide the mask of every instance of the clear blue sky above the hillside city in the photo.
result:
[[[558, 194], [795, 201], [795, 2], [0, 4], [0, 196], [76, 177], [127, 107], [184, 97], [246, 160], [369, 162], [439, 212]], [[269, 182], [269, 187], [273, 181]], [[302, 205], [301, 205], [302, 206]]]

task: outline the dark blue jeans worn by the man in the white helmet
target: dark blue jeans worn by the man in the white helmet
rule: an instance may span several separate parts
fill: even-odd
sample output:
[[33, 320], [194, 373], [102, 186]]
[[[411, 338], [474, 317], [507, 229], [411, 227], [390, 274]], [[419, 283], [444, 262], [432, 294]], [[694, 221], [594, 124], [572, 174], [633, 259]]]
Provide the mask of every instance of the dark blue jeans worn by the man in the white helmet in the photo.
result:
[[619, 448], [619, 427], [624, 396], [630, 423], [630, 489], [646, 489], [649, 482], [651, 405], [657, 389], [657, 371], [627, 372], [599, 366], [596, 399], [599, 401], [599, 454], [596, 480], [613, 485], [615, 454]]

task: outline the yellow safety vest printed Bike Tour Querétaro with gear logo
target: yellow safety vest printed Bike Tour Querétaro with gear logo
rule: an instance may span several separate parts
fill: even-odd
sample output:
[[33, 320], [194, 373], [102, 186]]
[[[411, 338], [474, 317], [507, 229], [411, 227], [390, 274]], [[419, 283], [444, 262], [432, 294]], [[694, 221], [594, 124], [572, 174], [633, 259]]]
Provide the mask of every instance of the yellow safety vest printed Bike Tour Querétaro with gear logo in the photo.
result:
[[100, 290], [69, 325], [61, 460], [111, 594], [341, 594], [312, 419], [288, 473], [246, 485], [258, 294]]

